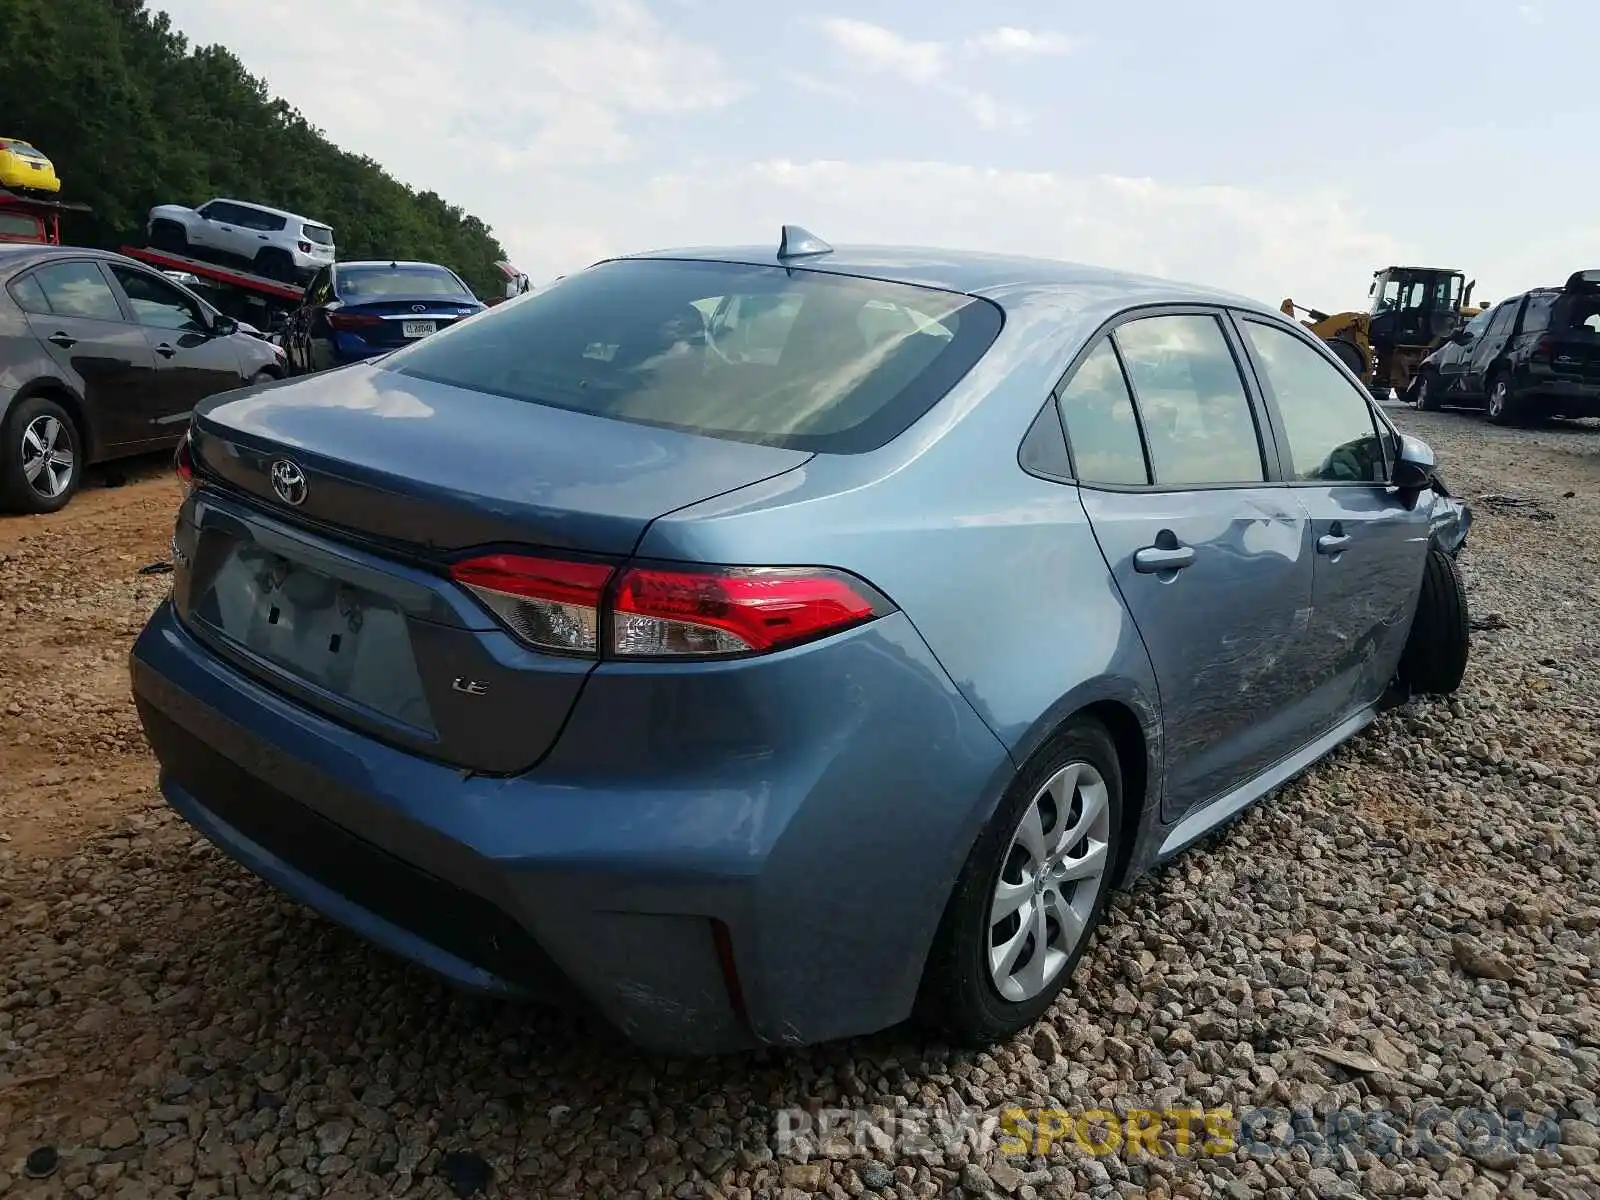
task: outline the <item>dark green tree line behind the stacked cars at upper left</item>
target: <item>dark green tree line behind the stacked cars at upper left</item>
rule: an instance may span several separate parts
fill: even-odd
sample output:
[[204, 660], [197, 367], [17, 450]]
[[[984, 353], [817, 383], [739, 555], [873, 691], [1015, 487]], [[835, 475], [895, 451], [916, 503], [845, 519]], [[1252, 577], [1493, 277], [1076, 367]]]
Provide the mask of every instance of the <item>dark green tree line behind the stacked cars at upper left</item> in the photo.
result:
[[[270, 5], [262, 10], [270, 13]], [[333, 226], [341, 259], [442, 262], [499, 294], [506, 251], [478, 218], [341, 150], [222, 46], [192, 48], [144, 0], [0, 0], [0, 138], [56, 165], [94, 213], [62, 240], [142, 245], [149, 210], [218, 195]]]

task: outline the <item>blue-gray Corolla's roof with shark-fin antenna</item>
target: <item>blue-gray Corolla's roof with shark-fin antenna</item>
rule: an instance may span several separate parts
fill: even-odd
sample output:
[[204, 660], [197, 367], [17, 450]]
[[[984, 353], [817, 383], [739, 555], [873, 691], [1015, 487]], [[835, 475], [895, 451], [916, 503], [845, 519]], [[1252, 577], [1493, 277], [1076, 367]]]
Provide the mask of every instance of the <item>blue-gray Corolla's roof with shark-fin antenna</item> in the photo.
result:
[[749, 266], [792, 267], [819, 270], [835, 275], [856, 275], [893, 283], [912, 283], [971, 296], [1016, 296], [1019, 291], [1093, 290], [1104, 293], [1160, 291], [1173, 302], [1229, 304], [1275, 312], [1259, 301], [1219, 288], [1182, 283], [1155, 275], [1098, 267], [1050, 258], [1019, 254], [992, 254], [974, 250], [942, 250], [933, 246], [898, 245], [850, 245], [835, 246], [826, 254], [806, 258], [778, 258], [776, 246], [685, 246], [680, 250], [651, 250], [638, 254], [621, 254], [622, 259], [699, 259], [712, 262], [738, 262]]

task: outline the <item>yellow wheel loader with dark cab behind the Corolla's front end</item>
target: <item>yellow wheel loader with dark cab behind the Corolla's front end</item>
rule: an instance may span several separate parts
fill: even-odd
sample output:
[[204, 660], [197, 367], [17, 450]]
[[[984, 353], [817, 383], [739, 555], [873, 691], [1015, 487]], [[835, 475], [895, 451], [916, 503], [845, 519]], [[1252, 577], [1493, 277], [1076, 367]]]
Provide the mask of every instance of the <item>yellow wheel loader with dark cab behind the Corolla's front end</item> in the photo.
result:
[[1486, 306], [1472, 304], [1477, 280], [1450, 267], [1384, 267], [1373, 272], [1368, 312], [1317, 312], [1293, 299], [1278, 306], [1285, 315], [1306, 314], [1306, 328], [1328, 342], [1355, 378], [1379, 400], [1389, 389], [1402, 397], [1416, 365]]

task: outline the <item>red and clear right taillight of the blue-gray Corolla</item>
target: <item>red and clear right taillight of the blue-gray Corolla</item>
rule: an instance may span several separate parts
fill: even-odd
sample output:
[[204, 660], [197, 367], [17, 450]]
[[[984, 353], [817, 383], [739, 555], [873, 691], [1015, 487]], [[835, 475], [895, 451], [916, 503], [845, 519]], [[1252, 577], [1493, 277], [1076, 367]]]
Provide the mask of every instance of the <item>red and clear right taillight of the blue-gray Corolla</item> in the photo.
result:
[[451, 568], [522, 642], [622, 659], [763, 654], [893, 611], [872, 587], [827, 568], [634, 566], [498, 554]]

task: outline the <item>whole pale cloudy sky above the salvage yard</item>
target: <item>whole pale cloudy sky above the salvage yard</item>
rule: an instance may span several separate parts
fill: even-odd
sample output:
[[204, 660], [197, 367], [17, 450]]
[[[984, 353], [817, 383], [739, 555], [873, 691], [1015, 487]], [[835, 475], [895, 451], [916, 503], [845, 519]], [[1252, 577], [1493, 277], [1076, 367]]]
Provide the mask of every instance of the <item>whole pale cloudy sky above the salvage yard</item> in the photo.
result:
[[786, 221], [1330, 310], [1389, 262], [1600, 267], [1594, 0], [152, 6], [534, 280]]

